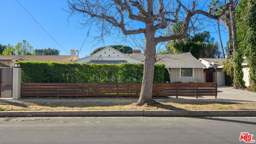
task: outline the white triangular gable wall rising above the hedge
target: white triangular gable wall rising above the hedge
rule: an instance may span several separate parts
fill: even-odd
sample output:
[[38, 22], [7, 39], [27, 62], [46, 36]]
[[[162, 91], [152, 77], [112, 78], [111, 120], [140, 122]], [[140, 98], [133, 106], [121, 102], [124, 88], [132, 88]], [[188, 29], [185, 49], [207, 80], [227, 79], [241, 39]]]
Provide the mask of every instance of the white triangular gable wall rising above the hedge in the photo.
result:
[[133, 59], [128, 55], [125, 55], [111, 48], [103, 49], [102, 51], [90, 55], [87, 58], [77, 60], [77, 62], [88, 63], [91, 60], [126, 60], [127, 63], [142, 63], [141, 60]]

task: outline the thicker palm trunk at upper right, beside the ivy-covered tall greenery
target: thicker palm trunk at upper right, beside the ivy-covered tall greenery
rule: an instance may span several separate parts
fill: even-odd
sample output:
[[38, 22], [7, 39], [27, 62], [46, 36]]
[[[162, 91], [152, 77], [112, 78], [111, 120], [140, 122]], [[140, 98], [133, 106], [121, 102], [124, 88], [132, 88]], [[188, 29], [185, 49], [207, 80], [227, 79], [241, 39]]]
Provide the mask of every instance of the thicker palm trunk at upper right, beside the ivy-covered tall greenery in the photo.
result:
[[233, 4], [230, 6], [230, 25], [231, 25], [231, 31], [232, 31], [232, 41], [233, 41], [233, 50], [237, 51], [237, 36], [236, 36], [236, 19], [234, 14], [234, 7]]

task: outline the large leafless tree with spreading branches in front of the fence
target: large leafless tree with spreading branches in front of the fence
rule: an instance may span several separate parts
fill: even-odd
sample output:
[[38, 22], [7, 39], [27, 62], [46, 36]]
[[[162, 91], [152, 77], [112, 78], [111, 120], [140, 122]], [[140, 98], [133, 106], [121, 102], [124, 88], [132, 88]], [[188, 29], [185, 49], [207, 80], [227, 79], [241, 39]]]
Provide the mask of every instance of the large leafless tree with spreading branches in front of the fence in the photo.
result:
[[[101, 30], [101, 36], [111, 30], [121, 30], [124, 35], [144, 34], [145, 65], [140, 98], [137, 105], [148, 103], [152, 99], [154, 65], [156, 62], [156, 45], [161, 42], [181, 39], [187, 36], [195, 20], [201, 20], [198, 15], [210, 19], [219, 19], [228, 9], [231, 0], [218, 15], [204, 11], [204, 2], [196, 0], [69, 0], [70, 13], [81, 14], [83, 24], [91, 26], [94, 23]], [[233, 2], [233, 1], [232, 1]], [[201, 17], [200, 16], [200, 17]], [[168, 26], [183, 21], [178, 34], [165, 34]]]

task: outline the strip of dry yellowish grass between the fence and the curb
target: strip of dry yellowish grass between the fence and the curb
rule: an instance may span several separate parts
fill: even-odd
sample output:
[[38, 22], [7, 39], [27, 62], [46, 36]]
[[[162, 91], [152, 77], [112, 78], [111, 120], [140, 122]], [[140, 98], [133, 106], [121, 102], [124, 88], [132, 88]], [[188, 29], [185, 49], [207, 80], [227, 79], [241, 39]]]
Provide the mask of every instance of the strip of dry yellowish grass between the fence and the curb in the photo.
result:
[[0, 111], [28, 110], [256, 110], [256, 102], [159, 102], [135, 106], [129, 102], [3, 102]]

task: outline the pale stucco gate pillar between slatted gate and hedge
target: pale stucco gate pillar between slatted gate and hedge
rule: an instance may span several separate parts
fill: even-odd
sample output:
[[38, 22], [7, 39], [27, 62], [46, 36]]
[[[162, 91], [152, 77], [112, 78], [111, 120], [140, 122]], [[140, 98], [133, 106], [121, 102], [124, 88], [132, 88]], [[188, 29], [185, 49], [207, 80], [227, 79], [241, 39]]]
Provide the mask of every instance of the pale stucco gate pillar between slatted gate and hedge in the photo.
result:
[[12, 72], [12, 99], [20, 99], [21, 68], [13, 68]]

